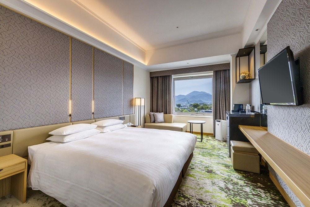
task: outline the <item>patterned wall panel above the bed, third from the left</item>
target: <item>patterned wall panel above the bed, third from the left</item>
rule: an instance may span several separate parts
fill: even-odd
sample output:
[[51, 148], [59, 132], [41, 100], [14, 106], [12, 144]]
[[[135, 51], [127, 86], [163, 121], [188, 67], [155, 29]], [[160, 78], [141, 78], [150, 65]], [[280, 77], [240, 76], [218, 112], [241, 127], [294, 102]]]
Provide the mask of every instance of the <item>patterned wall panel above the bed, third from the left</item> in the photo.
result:
[[94, 118], [123, 114], [123, 61], [113, 55], [94, 51]]

